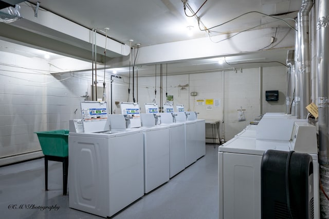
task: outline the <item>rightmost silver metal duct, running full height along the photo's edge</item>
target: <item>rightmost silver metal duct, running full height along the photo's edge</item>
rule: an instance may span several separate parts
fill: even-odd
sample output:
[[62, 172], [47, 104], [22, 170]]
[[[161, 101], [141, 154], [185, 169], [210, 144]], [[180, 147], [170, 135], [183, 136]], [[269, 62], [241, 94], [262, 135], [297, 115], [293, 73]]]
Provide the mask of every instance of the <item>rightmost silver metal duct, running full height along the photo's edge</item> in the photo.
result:
[[[319, 164], [320, 182], [329, 194], [329, 2], [319, 1], [317, 21]], [[321, 218], [329, 218], [329, 202], [320, 192]]]

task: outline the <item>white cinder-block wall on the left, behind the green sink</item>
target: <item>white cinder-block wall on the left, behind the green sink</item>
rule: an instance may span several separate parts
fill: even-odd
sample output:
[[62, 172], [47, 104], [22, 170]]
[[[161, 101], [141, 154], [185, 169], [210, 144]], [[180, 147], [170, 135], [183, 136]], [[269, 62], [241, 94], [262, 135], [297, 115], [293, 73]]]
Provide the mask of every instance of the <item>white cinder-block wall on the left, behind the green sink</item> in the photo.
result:
[[38, 151], [35, 131], [68, 129], [69, 120], [80, 118], [88, 76], [51, 75], [53, 66], [40, 58], [0, 57], [0, 158]]

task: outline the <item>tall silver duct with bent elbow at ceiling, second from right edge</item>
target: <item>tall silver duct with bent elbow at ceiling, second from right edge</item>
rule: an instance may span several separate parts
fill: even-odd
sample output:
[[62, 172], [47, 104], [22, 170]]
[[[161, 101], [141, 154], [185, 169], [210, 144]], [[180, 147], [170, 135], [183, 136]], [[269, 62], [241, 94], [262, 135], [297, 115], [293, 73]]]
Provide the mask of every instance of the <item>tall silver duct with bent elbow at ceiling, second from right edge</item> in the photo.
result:
[[309, 48], [309, 12], [313, 0], [303, 0], [298, 12], [298, 45], [299, 45], [299, 89], [300, 89], [300, 118], [306, 118], [306, 106], [311, 103], [310, 94], [310, 48]]

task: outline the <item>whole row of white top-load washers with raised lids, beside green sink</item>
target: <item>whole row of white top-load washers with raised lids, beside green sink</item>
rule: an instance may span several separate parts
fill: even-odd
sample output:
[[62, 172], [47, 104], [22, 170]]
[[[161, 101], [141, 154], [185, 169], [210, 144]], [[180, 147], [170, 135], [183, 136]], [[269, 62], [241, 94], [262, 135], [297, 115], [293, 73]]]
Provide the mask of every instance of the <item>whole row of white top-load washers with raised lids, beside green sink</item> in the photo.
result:
[[[161, 115], [155, 126], [156, 116], [140, 114], [136, 103], [123, 103], [120, 115], [107, 114], [106, 105], [82, 102], [83, 126], [70, 127], [69, 207], [111, 217], [190, 165], [186, 154], [193, 163], [205, 150], [197, 150], [196, 126], [186, 138], [186, 124], [196, 121], [173, 123], [167, 113], [168, 123]], [[195, 145], [187, 148], [187, 139]]]

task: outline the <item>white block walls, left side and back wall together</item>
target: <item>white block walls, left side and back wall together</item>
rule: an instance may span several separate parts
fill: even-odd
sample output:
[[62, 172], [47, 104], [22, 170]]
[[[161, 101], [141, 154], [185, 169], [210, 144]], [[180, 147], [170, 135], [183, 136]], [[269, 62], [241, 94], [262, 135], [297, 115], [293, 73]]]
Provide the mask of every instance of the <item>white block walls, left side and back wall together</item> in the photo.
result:
[[[11, 53], [0, 54], [0, 158], [13, 154], [40, 150], [35, 131], [68, 129], [68, 121], [80, 118], [80, 101], [88, 91], [90, 99], [91, 72], [68, 72], [51, 75], [53, 67], [49, 61], [29, 58]], [[265, 112], [284, 112], [285, 110], [285, 67], [242, 69], [242, 72], [225, 71], [224, 99], [223, 72], [170, 75], [162, 78], [163, 103], [166, 92], [174, 96], [174, 104], [184, 104], [186, 110], [199, 112], [198, 117], [206, 120], [225, 121], [225, 140], [228, 141], [253, 119]], [[260, 99], [260, 75], [262, 74], [262, 101]], [[98, 71], [102, 78], [103, 72]], [[103, 78], [102, 78], [103, 79]], [[115, 102], [133, 102], [128, 95], [129, 78], [113, 77], [113, 113], [121, 109]], [[136, 82], [135, 78], [135, 82]], [[105, 78], [105, 101], [111, 111], [110, 76]], [[131, 78], [132, 83], [132, 78]], [[135, 86], [135, 89], [137, 85]], [[160, 77], [138, 78], [138, 95], [141, 111], [144, 103], [155, 101], [160, 105]], [[280, 101], [267, 103], [265, 90], [279, 90]], [[190, 96], [190, 92], [197, 96]], [[220, 99], [219, 106], [198, 106], [196, 99]], [[262, 103], [262, 105], [261, 105]], [[260, 112], [261, 107], [263, 111]], [[245, 109], [246, 121], [237, 121], [237, 110]], [[208, 135], [211, 131], [208, 129]]]

